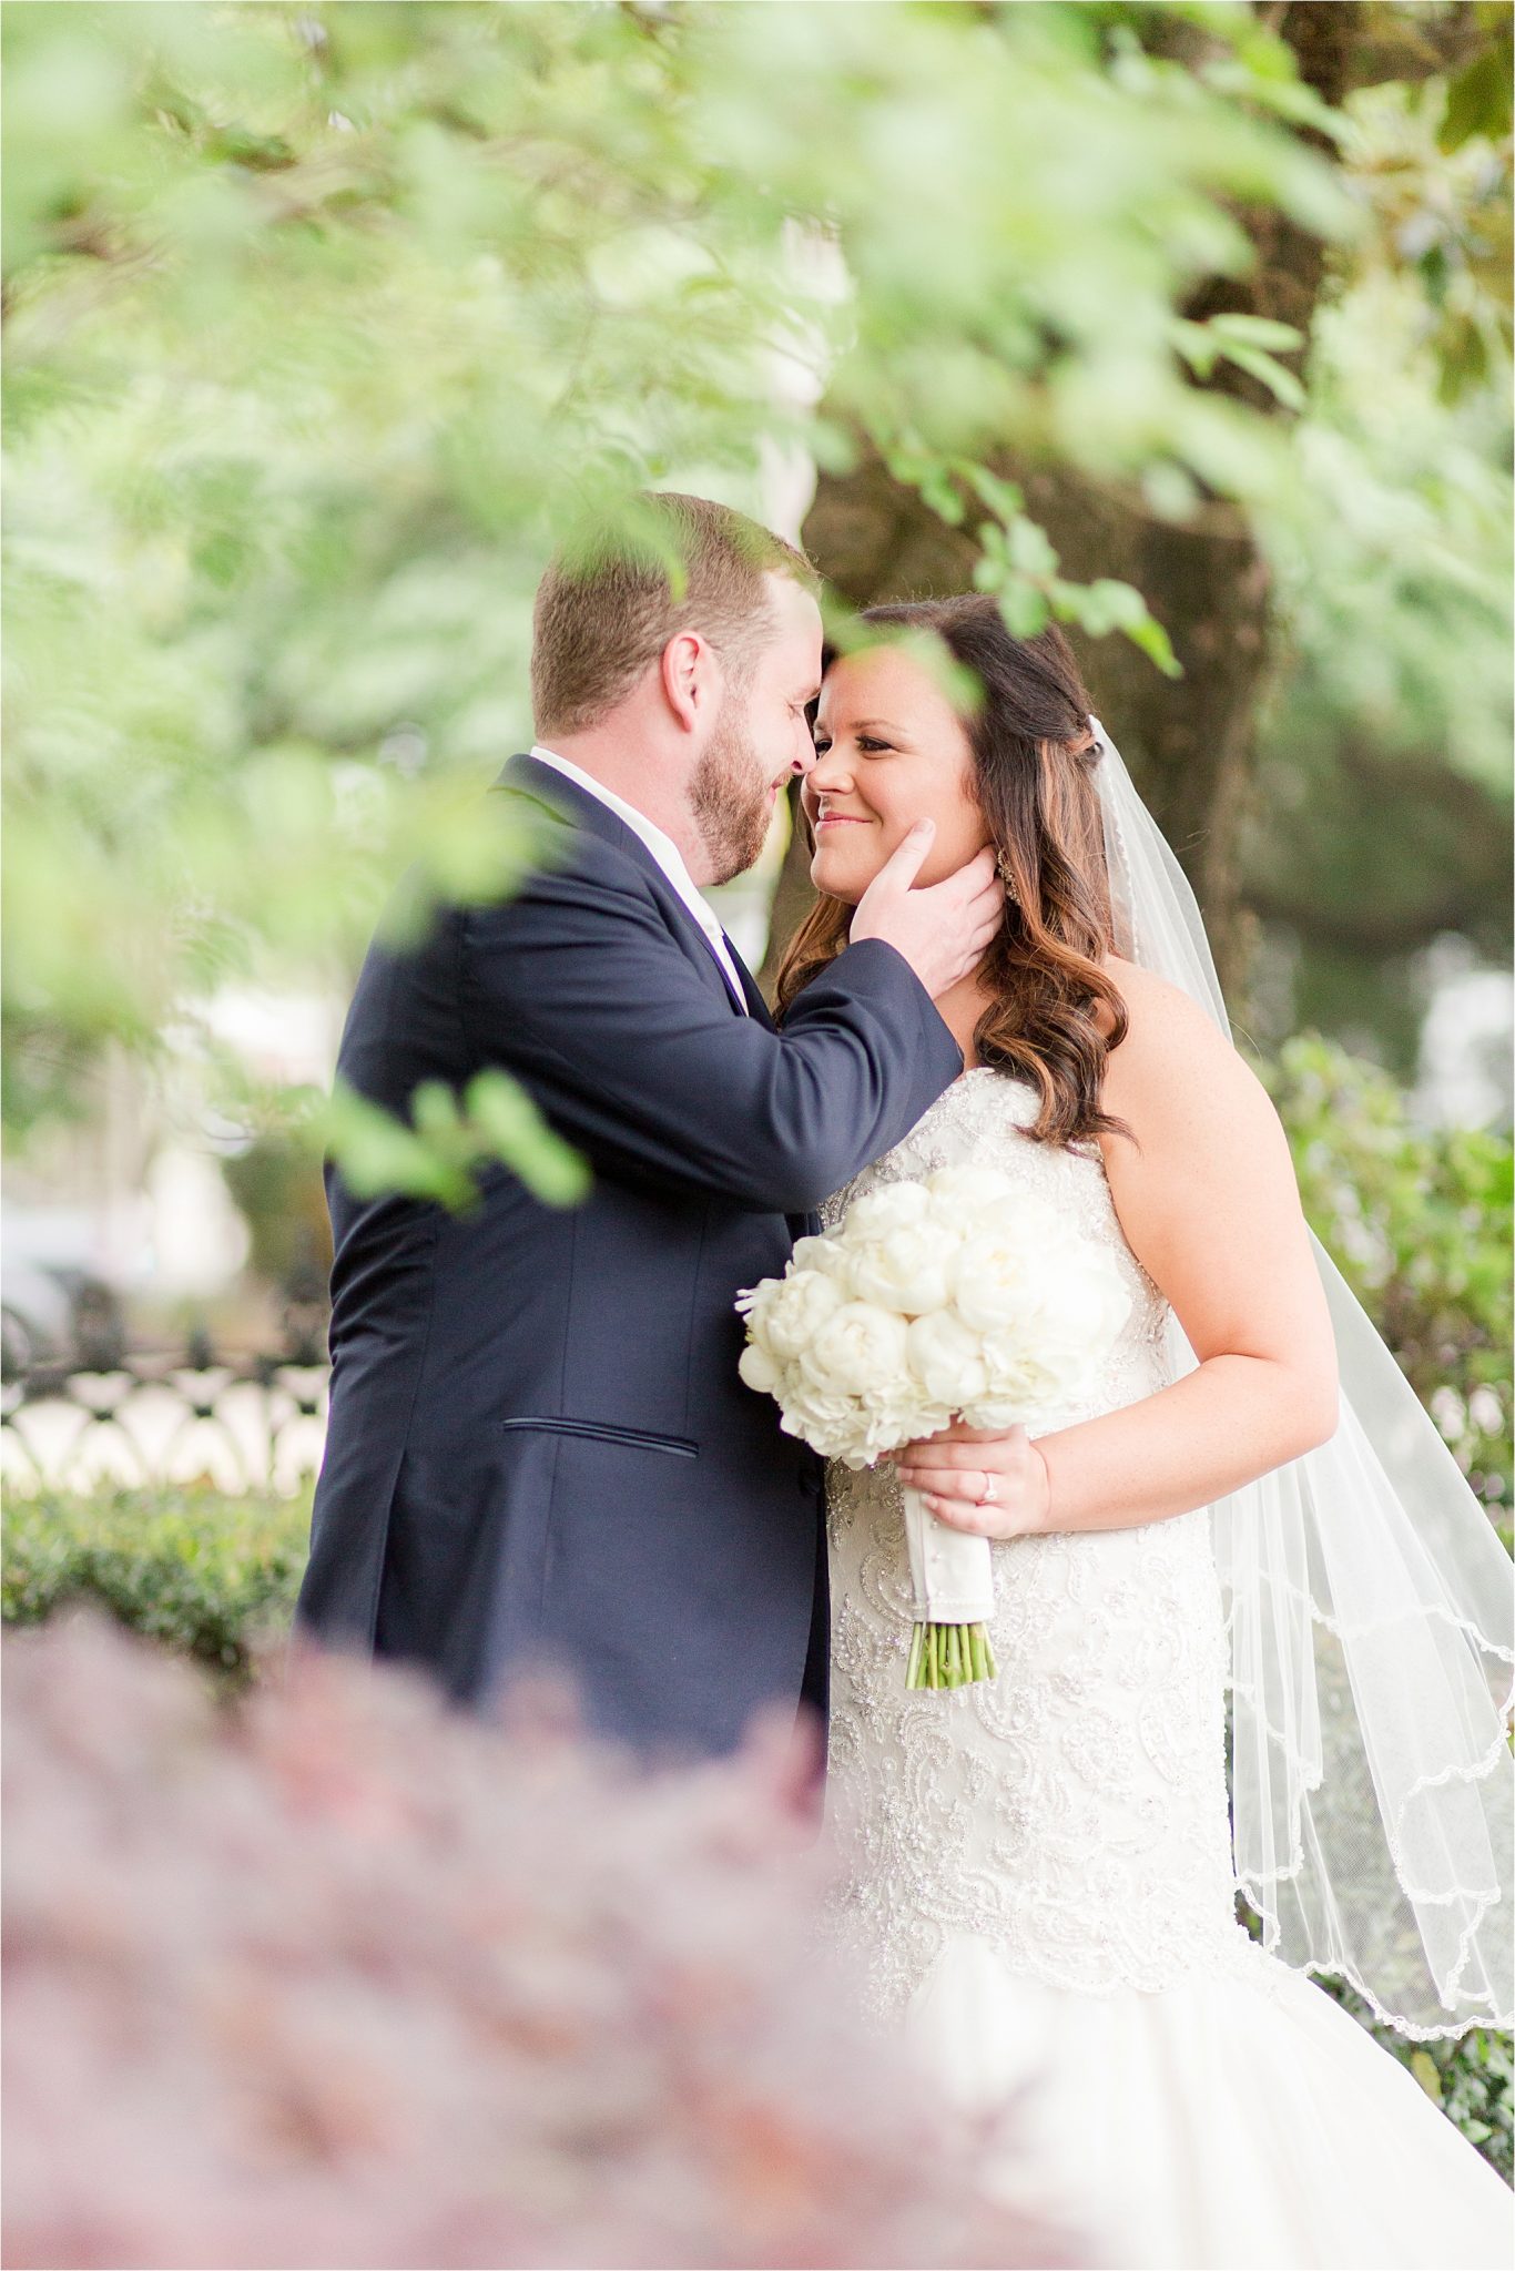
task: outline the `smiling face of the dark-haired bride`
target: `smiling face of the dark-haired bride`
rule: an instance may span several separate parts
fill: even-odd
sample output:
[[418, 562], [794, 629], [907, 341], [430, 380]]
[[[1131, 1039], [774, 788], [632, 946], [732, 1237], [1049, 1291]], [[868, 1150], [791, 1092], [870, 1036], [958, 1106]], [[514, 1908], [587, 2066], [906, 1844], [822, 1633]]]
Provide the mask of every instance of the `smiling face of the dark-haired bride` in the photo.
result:
[[963, 722], [897, 647], [831, 663], [815, 713], [815, 765], [800, 795], [815, 831], [811, 883], [847, 906], [918, 820], [936, 820], [920, 883], [940, 883], [988, 843]]

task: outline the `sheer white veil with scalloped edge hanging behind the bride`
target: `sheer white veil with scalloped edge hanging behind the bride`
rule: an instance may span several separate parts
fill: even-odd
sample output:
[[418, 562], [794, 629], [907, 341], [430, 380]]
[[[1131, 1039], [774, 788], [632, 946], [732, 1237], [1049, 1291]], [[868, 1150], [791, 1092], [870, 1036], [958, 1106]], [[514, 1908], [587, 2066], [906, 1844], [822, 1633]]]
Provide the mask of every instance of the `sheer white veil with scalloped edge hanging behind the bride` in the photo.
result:
[[[1195, 895], [1097, 718], [1115, 952], [1231, 1022]], [[1236, 1878], [1283, 1962], [1406, 2035], [1508, 2026], [1513, 1574], [1313, 1238], [1340, 1424], [1211, 1510], [1231, 1635]], [[1172, 1376], [1195, 1367], [1170, 1322]]]

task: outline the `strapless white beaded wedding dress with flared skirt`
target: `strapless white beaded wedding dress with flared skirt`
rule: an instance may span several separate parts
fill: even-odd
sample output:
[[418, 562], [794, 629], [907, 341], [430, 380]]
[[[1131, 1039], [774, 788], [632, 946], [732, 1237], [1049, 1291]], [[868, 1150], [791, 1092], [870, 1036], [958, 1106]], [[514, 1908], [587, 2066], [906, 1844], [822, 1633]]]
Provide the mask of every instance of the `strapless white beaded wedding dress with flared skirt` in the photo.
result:
[[[1097, 1142], [1036, 1145], [1029, 1083], [963, 1074], [825, 1208], [974, 1160], [1108, 1247], [1131, 1315], [1095, 1392], [1167, 1381], [1167, 1304], [1127, 1245]], [[1038, 1428], [1040, 1433], [1040, 1428]], [[893, 1467], [827, 1485], [827, 1928], [965, 2112], [1006, 2107], [1015, 2171], [1106, 2264], [1510, 2262], [1499, 2176], [1313, 1980], [1238, 1924], [1227, 1635], [1208, 1512], [993, 1547], [997, 1681], [904, 1685], [913, 1601]], [[1008, 2171], [1008, 2162], [1006, 2162]]]

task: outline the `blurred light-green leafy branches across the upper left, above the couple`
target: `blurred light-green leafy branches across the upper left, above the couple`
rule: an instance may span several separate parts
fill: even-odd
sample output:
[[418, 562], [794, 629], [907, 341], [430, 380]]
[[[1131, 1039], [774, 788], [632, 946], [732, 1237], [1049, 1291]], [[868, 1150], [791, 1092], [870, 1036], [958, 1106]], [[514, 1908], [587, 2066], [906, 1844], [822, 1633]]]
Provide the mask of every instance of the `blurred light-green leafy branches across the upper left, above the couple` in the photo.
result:
[[[409, 922], [509, 888], [479, 790], [554, 543], [859, 434], [931, 495], [1006, 434], [1154, 511], [1263, 495], [1277, 431], [1190, 372], [1279, 341], [1181, 304], [1254, 259], [1242, 207], [1358, 225], [1236, 7], [18, 0], [2, 36], [23, 1133], [109, 1045], [214, 1056], [223, 981], [345, 990], [404, 863]], [[1013, 620], [1163, 659], [1004, 484], [972, 509]], [[529, 1113], [482, 1136], [561, 1179]]]

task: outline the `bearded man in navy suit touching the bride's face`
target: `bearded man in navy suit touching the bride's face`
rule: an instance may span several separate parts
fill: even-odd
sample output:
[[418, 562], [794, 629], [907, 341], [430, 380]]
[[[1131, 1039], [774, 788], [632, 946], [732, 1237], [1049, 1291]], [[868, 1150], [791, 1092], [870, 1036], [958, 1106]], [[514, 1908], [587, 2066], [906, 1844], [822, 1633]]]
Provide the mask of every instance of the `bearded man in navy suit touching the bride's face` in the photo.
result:
[[397, 1113], [422, 1079], [507, 1067], [593, 1190], [554, 1210], [495, 1165], [450, 1215], [327, 1165], [332, 1417], [298, 1631], [472, 1706], [556, 1662], [591, 1726], [652, 1758], [727, 1751], [759, 1706], [825, 1721], [822, 1469], [738, 1381], [734, 1301], [956, 1079], [934, 995], [1002, 899], [988, 854], [911, 890], [929, 840], [906, 840], [775, 1031], [697, 886], [752, 865], [813, 763], [815, 577], [725, 506], [645, 504], [681, 590], [606, 550], [536, 600], [538, 743], [493, 795], [545, 820], [541, 872], [441, 908], [404, 954], [375, 942], [338, 1054]]

